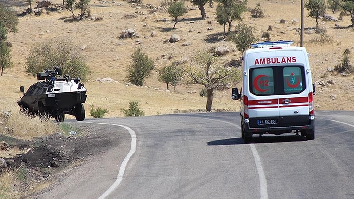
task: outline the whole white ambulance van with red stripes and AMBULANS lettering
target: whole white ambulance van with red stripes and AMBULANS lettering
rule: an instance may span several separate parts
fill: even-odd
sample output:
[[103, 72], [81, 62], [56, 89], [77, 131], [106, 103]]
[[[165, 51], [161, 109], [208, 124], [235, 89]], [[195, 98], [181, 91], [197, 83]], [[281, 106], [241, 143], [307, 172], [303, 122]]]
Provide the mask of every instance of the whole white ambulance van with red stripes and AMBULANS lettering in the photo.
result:
[[307, 53], [292, 41], [252, 44], [241, 57], [242, 87], [232, 89], [241, 101], [241, 136], [251, 142], [253, 134], [314, 134], [314, 94]]

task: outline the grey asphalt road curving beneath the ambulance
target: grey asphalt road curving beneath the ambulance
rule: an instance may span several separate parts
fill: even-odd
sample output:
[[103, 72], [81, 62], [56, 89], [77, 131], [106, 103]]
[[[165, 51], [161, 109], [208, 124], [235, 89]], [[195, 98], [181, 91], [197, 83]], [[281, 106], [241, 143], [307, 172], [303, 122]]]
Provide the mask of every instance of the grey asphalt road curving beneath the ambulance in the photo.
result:
[[354, 112], [316, 111], [315, 140], [241, 139], [236, 112], [87, 119], [114, 132], [46, 198], [354, 198]]

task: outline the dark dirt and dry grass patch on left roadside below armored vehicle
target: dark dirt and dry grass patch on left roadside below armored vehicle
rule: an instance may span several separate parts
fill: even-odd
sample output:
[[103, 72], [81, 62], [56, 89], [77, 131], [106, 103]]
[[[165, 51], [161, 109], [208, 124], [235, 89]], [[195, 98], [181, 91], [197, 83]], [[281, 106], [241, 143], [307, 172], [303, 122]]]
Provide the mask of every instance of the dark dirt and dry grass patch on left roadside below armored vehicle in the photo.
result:
[[[56, 183], [59, 172], [78, 166], [110, 146], [109, 138], [102, 136], [100, 127], [82, 125], [80, 133], [64, 135], [61, 133], [35, 138], [31, 141], [1, 135], [11, 148], [28, 148], [27, 153], [3, 158], [8, 171], [16, 171], [18, 182], [14, 182], [20, 196], [34, 195]], [[84, 135], [83, 135], [84, 134]], [[1, 158], [1, 157], [0, 157]], [[46, 185], [43, 185], [46, 184]]]

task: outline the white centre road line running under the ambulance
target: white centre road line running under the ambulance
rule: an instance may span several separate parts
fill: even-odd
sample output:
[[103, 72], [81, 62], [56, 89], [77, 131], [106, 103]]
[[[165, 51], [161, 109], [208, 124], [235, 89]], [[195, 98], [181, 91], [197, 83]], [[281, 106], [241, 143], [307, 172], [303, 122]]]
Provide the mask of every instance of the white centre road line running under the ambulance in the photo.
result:
[[[226, 122], [226, 121], [216, 120], [216, 119], [210, 119], [210, 118], [204, 118], [204, 119], [227, 123], [227, 124], [230, 124], [232, 126], [235, 126], [235, 127], [239, 128], [239, 129], [241, 129], [241, 127], [239, 125], [236, 125], [236, 124], [231, 123], [231, 122]], [[259, 154], [258, 154], [258, 151], [257, 151], [257, 148], [255, 147], [255, 145], [254, 144], [249, 144], [249, 147], [251, 147], [251, 151], [252, 151], [252, 155], [253, 155], [253, 158], [254, 158], [254, 162], [256, 163], [256, 167], [257, 167], [257, 172], [258, 172], [258, 177], [259, 177], [260, 198], [267, 199], [268, 198], [267, 178], [265, 178], [265, 173], [264, 173], [264, 170], [263, 170], [262, 161], [260, 160], [260, 157], [259, 157]]]

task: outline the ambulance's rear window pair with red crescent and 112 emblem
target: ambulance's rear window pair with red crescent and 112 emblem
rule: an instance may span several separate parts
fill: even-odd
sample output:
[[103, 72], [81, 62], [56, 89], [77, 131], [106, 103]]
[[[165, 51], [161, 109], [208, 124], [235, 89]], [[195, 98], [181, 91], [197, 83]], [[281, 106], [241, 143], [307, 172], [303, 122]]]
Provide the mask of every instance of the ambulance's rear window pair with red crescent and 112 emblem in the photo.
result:
[[258, 95], [297, 94], [306, 89], [303, 66], [271, 66], [250, 69], [250, 92]]

